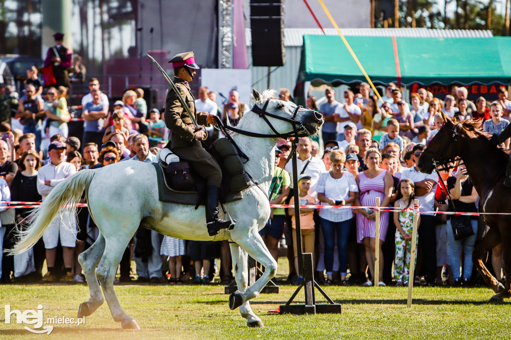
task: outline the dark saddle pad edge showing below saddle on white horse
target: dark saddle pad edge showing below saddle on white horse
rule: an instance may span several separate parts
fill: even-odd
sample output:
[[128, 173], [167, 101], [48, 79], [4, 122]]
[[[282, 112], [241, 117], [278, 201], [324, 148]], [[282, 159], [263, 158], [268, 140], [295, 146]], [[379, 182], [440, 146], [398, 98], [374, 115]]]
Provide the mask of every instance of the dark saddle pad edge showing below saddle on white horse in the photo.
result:
[[[197, 191], [177, 191], [170, 188], [165, 181], [164, 169], [158, 163], [152, 163], [156, 169], [156, 178], [158, 180], [158, 198], [161, 202], [180, 203], [187, 205], [205, 205], [205, 195], [200, 195]], [[225, 203], [234, 202], [243, 199], [243, 193], [229, 192]]]

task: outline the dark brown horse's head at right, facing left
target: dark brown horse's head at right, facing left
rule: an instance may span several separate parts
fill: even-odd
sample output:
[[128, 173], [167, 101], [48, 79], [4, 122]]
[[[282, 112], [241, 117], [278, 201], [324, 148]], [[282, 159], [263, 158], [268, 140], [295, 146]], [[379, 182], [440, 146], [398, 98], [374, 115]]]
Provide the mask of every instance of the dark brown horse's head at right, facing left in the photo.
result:
[[435, 163], [447, 164], [454, 161], [459, 156], [462, 149], [462, 143], [458, 141], [466, 135], [462, 123], [456, 123], [442, 112], [444, 124], [438, 130], [436, 135], [428, 143], [424, 150], [417, 167], [423, 173], [431, 174], [435, 169]]

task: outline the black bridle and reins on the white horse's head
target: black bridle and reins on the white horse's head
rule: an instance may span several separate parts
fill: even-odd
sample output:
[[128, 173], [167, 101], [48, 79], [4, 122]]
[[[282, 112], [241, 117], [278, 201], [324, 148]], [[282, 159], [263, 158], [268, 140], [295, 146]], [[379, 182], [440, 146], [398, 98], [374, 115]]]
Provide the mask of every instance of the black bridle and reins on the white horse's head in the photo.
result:
[[[296, 115], [298, 114], [298, 110], [300, 110], [303, 107], [298, 105], [294, 109], [294, 111], [293, 111], [293, 117], [292, 118], [286, 118], [286, 117], [281, 117], [279, 115], [267, 112], [266, 108], [268, 107], [269, 103], [270, 103], [270, 99], [267, 99], [266, 102], [263, 105], [263, 108], [260, 108], [259, 106], [257, 106], [257, 104], [254, 104], [254, 106], [252, 107], [252, 109], [250, 111], [252, 111], [255, 114], [257, 114], [260, 118], [263, 118], [264, 121], [266, 122], [266, 124], [270, 127], [271, 131], [274, 132], [273, 134], [264, 134], [264, 133], [245, 131], [245, 130], [241, 130], [241, 129], [238, 129], [238, 128], [233, 128], [231, 126], [224, 126], [224, 129], [230, 130], [230, 131], [233, 131], [233, 132], [245, 135], [245, 136], [258, 137], [258, 138], [277, 138], [278, 137], [278, 138], [287, 139], [289, 137], [306, 137], [306, 136], [309, 135], [308, 132], [307, 132], [307, 129], [305, 128], [303, 123], [296, 122]], [[293, 131], [289, 131], [289, 132], [286, 132], [286, 133], [278, 132], [273, 127], [273, 125], [271, 124], [271, 122], [268, 119], [268, 117], [275, 118], [275, 119], [278, 119], [278, 120], [283, 120], [284, 122], [287, 122], [287, 123], [291, 124], [292, 127], [293, 127]]]

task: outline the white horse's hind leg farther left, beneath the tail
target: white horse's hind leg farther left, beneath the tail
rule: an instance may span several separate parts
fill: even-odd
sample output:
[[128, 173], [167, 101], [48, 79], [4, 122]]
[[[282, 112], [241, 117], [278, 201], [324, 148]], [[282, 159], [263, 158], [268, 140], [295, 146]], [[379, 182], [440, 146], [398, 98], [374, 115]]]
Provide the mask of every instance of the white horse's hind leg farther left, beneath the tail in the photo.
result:
[[96, 278], [96, 266], [101, 260], [104, 250], [105, 238], [100, 233], [96, 242], [78, 256], [90, 292], [90, 298], [78, 307], [78, 318], [88, 317], [104, 302], [103, 293], [101, 293], [101, 287]]

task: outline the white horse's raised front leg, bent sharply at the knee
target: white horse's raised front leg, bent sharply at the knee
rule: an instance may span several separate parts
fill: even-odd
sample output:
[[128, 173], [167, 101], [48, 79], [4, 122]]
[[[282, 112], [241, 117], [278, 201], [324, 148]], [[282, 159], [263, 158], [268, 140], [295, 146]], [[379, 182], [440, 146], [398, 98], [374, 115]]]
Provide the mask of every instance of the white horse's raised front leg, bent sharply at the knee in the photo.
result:
[[[263, 239], [256, 228], [250, 228], [248, 234], [235, 242], [243, 248], [248, 255], [264, 266], [264, 274], [255, 281], [244, 293], [235, 292], [229, 297], [229, 308], [235, 309], [243, 305], [246, 301], [259, 295], [259, 292], [270, 281], [277, 272], [277, 262], [273, 259], [270, 252], [264, 245]], [[233, 256], [234, 259], [234, 256]]]

